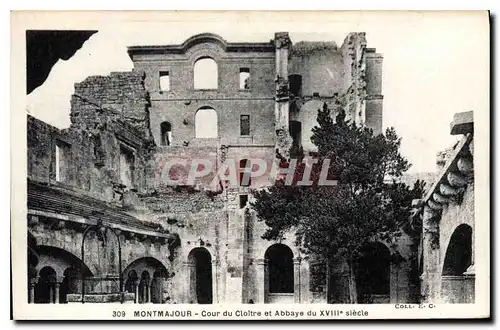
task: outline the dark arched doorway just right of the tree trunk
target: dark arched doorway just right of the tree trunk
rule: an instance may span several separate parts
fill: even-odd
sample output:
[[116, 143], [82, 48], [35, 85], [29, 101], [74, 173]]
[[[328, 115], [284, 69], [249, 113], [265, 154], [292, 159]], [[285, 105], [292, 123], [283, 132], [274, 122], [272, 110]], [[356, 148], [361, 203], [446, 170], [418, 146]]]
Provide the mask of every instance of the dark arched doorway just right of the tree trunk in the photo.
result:
[[390, 302], [391, 253], [382, 243], [372, 243], [361, 249], [362, 257], [356, 270], [358, 303]]

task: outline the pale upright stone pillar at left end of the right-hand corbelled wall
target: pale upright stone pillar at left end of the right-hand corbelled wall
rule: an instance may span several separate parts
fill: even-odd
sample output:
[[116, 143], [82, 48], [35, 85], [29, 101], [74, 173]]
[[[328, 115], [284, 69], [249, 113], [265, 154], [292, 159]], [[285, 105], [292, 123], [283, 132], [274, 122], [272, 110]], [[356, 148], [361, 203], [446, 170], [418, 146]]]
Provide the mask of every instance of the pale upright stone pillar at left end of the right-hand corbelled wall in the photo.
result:
[[423, 230], [423, 268], [421, 275], [421, 293], [423, 302], [440, 301], [441, 270], [439, 251], [439, 220], [436, 211], [429, 206], [424, 207], [422, 218]]

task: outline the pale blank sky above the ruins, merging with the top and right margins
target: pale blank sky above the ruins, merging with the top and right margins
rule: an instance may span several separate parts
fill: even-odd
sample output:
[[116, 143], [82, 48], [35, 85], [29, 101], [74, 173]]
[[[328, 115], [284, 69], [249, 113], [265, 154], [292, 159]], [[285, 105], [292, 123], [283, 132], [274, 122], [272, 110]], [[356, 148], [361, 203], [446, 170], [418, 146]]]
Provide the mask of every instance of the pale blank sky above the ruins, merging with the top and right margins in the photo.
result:
[[[69, 16], [68, 16], [69, 15]], [[27, 96], [27, 112], [56, 127], [69, 126], [74, 83], [91, 75], [129, 71], [127, 46], [180, 44], [212, 32], [228, 42], [267, 42], [288, 31], [293, 42], [335, 41], [366, 32], [367, 47], [384, 57], [383, 126], [402, 137], [409, 172], [436, 171], [436, 154], [454, 144], [453, 115], [489, 113], [489, 26], [470, 12], [270, 12], [130, 13], [45, 17], [43, 28], [91, 28], [67, 61], [54, 65], [45, 83]]]

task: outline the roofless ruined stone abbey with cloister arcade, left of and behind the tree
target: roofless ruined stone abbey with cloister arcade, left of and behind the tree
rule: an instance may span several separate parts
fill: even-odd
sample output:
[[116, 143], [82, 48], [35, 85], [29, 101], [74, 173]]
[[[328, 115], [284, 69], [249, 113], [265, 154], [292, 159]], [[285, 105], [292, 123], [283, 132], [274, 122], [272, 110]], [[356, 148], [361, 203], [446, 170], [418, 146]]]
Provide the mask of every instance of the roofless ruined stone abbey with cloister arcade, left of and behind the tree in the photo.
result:
[[[113, 283], [108, 291], [137, 303], [345, 302], [343, 261], [325, 271], [293, 235], [261, 238], [265, 224], [248, 201], [267, 177], [215, 187], [211, 179], [227, 160], [244, 173], [247, 159], [313, 150], [323, 103], [380, 133], [382, 56], [366, 47], [365, 34], [337, 47], [293, 44], [288, 33], [264, 43], [207, 33], [128, 53], [132, 72], [75, 84], [68, 129], [28, 118], [29, 301], [79, 301], [88, 278]], [[172, 159], [208, 160], [210, 180], [184, 184], [186, 168], [174, 171]], [[90, 235], [82, 248], [84, 231], [98, 224], [117, 233], [120, 267], [112, 235]], [[376, 265], [381, 283], [360, 281], [365, 302], [417, 299], [418, 243], [404, 233], [370, 249], [366, 266]]]

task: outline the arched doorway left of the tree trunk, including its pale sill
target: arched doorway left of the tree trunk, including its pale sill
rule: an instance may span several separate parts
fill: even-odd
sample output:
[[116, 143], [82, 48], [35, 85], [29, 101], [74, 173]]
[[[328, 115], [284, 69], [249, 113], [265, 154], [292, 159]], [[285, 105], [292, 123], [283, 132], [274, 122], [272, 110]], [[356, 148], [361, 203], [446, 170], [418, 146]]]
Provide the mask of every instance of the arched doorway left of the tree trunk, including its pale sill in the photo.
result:
[[294, 301], [293, 252], [285, 244], [271, 245], [264, 254], [267, 261], [265, 288], [267, 301], [287, 303]]

